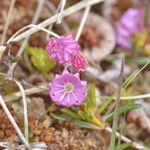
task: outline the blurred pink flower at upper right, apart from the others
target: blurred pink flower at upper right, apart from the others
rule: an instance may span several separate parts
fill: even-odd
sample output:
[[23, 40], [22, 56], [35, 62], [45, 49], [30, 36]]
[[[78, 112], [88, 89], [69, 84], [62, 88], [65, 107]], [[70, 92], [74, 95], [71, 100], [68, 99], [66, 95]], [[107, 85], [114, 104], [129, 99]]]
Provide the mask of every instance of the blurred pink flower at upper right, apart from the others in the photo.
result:
[[117, 43], [122, 48], [132, 48], [132, 36], [144, 28], [144, 10], [130, 8], [121, 17], [117, 28]]

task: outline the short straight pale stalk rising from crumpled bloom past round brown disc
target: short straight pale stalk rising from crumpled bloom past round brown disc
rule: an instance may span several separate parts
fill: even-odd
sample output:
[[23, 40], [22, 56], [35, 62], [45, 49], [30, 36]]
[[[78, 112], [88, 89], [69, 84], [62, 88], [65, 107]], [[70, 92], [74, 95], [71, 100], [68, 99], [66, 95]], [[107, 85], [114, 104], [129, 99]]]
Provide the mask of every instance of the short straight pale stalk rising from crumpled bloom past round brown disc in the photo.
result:
[[76, 34], [76, 37], [75, 37], [75, 40], [76, 40], [76, 41], [78, 41], [79, 38], [80, 38], [80, 35], [81, 35], [81, 33], [82, 33], [82, 30], [83, 30], [83, 27], [84, 27], [84, 25], [85, 25], [85, 22], [86, 22], [86, 20], [87, 20], [88, 14], [89, 14], [89, 12], [90, 12], [90, 8], [91, 8], [90, 6], [87, 6], [87, 7], [85, 8], [85, 10], [84, 10], [84, 14], [83, 14], [82, 20], [81, 20], [81, 22], [80, 22], [80, 26], [79, 26], [79, 28], [78, 28], [78, 31], [77, 31], [77, 34]]

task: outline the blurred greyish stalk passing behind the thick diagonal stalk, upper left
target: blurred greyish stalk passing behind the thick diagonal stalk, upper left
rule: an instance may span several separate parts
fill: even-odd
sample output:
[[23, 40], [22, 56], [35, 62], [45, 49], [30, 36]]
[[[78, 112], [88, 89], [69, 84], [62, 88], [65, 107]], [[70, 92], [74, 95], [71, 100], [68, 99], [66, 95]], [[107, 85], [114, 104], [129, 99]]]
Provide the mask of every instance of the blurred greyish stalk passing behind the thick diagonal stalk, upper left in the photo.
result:
[[[34, 16], [33, 16], [33, 19], [32, 19], [32, 24], [36, 24], [36, 23], [37, 23], [44, 2], [45, 2], [45, 0], [39, 0], [39, 3], [38, 3], [38, 6], [37, 6], [37, 9], [36, 9], [36, 12], [35, 12], [35, 14], [34, 14]], [[17, 53], [17, 55], [16, 55], [17, 57], [19, 57], [19, 56], [22, 55], [22, 53], [23, 53], [23, 51], [24, 51], [24, 49], [25, 49], [25, 47], [26, 47], [26, 45], [27, 45], [29, 39], [30, 39], [30, 35], [29, 35], [29, 36], [26, 36], [25, 40], [24, 40], [23, 43], [22, 43], [21, 48], [19, 49], [19, 51], [18, 51], [18, 53]], [[11, 76], [11, 77], [12, 77], [12, 75], [13, 75], [13, 71], [14, 71], [16, 65], [17, 65], [17, 62], [16, 62], [16, 63], [13, 63], [12, 66], [10, 67], [10, 76]]]

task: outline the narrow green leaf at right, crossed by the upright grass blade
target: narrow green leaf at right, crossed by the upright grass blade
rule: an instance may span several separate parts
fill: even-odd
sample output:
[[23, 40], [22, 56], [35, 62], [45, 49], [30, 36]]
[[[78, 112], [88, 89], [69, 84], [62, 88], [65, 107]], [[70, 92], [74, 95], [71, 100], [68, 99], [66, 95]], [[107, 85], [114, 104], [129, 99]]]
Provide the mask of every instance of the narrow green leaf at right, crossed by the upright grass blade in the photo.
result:
[[[126, 106], [121, 107], [121, 108], [119, 109], [119, 112], [118, 112], [118, 113], [119, 113], [119, 115], [122, 115], [122, 114], [124, 114], [124, 113], [126, 113], [126, 112], [128, 112], [128, 111], [130, 111], [130, 110], [138, 109], [138, 108], [141, 108], [141, 107], [142, 107], [141, 104], [128, 104], [128, 105], [126, 105]], [[104, 117], [104, 120], [105, 120], [106, 122], [112, 121], [113, 118], [114, 118], [114, 114], [115, 114], [114, 112], [108, 114], [107, 116]]]

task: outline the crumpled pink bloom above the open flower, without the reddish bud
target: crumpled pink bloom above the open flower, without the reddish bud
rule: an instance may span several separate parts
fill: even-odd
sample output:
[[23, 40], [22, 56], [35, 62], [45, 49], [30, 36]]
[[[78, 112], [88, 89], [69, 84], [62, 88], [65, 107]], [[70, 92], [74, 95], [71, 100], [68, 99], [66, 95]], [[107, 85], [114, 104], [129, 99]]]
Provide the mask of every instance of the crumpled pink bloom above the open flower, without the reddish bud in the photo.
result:
[[46, 50], [50, 57], [59, 63], [66, 63], [71, 60], [71, 56], [75, 52], [79, 52], [80, 47], [73, 39], [72, 35], [60, 38], [50, 38]]

